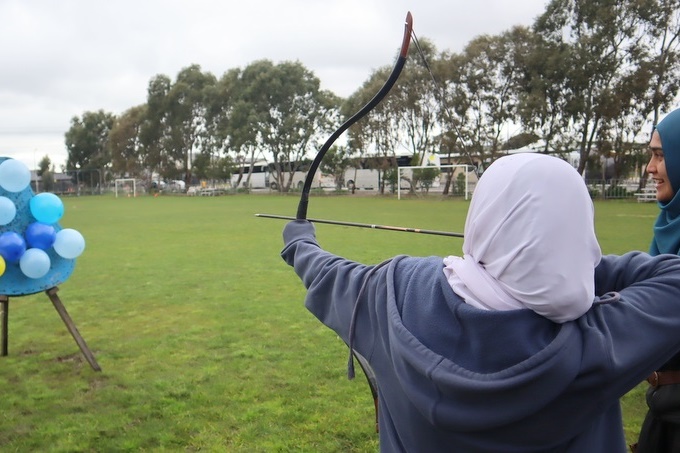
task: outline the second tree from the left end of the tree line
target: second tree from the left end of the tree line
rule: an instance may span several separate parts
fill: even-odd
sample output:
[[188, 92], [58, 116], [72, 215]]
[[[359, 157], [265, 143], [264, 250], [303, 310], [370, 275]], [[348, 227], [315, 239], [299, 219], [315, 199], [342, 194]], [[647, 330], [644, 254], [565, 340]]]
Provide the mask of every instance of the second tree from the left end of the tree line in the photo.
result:
[[132, 107], [116, 118], [109, 132], [111, 170], [117, 176], [150, 179], [146, 152], [141, 142], [146, 115], [146, 104]]

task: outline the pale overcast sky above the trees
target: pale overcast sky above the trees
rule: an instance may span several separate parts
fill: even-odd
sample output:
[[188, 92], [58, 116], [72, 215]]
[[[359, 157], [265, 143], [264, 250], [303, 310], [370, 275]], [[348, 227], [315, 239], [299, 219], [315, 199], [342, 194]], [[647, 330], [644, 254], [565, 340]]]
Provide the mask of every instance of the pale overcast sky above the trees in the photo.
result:
[[394, 63], [407, 11], [419, 39], [459, 52], [529, 26], [548, 0], [0, 0], [0, 156], [66, 162], [71, 118], [146, 102], [149, 80], [198, 64], [220, 77], [300, 61], [349, 96]]

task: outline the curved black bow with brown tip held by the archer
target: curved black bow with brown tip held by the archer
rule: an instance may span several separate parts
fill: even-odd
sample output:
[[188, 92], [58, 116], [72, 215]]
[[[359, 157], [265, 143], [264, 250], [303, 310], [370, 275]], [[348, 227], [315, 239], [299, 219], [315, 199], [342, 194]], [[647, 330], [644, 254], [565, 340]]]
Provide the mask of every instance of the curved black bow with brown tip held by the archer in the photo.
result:
[[[309, 170], [307, 172], [305, 184], [302, 187], [302, 195], [300, 196], [300, 203], [298, 204], [296, 216], [298, 220], [307, 219], [307, 206], [309, 205], [309, 191], [312, 188], [314, 174], [319, 168], [321, 160], [323, 159], [326, 152], [330, 149], [331, 145], [333, 145], [333, 143], [338, 139], [338, 137], [340, 137], [340, 135], [342, 135], [342, 133], [345, 132], [352, 124], [356, 123], [361, 118], [363, 118], [368, 112], [373, 110], [373, 108], [377, 106], [380, 103], [380, 101], [382, 101], [385, 98], [385, 96], [387, 96], [387, 93], [392, 89], [392, 87], [396, 83], [397, 79], [399, 78], [399, 74], [401, 74], [401, 71], [402, 69], [404, 69], [404, 65], [406, 64], [406, 56], [408, 55], [408, 47], [409, 44], [411, 43], [412, 32], [413, 32], [413, 17], [411, 16], [411, 12], [409, 11], [406, 14], [406, 23], [404, 24], [404, 37], [402, 39], [399, 57], [397, 58], [397, 62], [395, 63], [389, 78], [382, 86], [382, 88], [380, 88], [380, 91], [378, 91], [378, 93], [375, 96], [373, 96], [373, 98], [366, 105], [364, 105], [357, 113], [355, 113], [347, 121], [345, 121], [338, 128], [338, 130], [331, 134], [328, 140], [326, 140], [326, 143], [324, 143], [324, 145], [317, 153], [316, 157], [314, 157], [314, 161], [312, 161], [312, 164], [310, 165]], [[378, 432], [378, 388], [375, 373], [373, 372], [373, 370], [371, 369], [370, 365], [368, 364], [364, 357], [362, 357], [360, 354], [353, 350], [352, 354], [354, 354], [354, 357], [356, 357], [357, 361], [359, 362], [361, 369], [366, 375], [368, 385], [371, 388], [371, 394], [373, 395], [373, 403], [375, 405], [375, 430], [376, 432]]]

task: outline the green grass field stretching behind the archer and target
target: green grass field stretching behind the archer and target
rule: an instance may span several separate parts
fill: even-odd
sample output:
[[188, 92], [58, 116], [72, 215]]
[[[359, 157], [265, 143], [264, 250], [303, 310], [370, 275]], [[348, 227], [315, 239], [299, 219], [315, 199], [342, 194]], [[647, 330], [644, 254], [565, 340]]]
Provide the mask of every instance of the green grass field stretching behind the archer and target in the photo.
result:
[[[304, 309], [279, 257], [297, 198], [65, 198], [62, 227], [87, 247], [60, 287], [102, 372], [44, 294], [12, 298], [0, 357], [0, 450], [376, 451], [363, 377]], [[309, 216], [463, 231], [467, 202], [316, 197]], [[596, 204], [605, 253], [646, 250], [655, 203]], [[328, 250], [366, 263], [449, 255], [461, 239], [317, 226]], [[624, 398], [632, 441], [644, 386]]]

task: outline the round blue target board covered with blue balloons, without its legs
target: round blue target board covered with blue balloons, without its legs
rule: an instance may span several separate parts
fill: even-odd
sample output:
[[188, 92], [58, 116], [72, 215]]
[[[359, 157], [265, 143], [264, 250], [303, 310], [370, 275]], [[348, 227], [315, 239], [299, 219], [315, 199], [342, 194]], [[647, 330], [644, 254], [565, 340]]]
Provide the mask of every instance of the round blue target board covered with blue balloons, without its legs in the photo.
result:
[[0, 294], [25, 296], [65, 282], [85, 249], [76, 230], [62, 228], [61, 199], [34, 194], [22, 162], [0, 157]]

